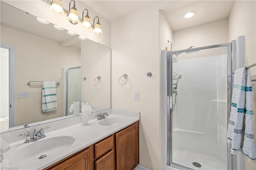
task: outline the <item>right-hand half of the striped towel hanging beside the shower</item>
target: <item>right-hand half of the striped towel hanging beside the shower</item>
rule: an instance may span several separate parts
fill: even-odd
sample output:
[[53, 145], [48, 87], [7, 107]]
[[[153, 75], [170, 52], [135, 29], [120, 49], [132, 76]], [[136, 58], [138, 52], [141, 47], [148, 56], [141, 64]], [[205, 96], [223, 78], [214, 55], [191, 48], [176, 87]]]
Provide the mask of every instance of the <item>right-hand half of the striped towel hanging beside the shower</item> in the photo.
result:
[[252, 79], [250, 69], [246, 70], [246, 95], [245, 95], [245, 128], [244, 144], [242, 151], [250, 159], [256, 159], [256, 149], [254, 143], [254, 115], [252, 98]]

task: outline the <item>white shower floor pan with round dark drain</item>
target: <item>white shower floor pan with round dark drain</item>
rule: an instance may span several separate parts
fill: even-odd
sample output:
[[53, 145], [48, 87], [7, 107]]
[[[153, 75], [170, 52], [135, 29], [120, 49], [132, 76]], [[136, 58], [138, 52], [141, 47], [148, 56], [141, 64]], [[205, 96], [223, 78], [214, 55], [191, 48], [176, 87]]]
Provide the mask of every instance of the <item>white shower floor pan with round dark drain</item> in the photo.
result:
[[[175, 150], [172, 155], [172, 162], [181, 166], [185, 166], [194, 170], [227, 170], [228, 167], [220, 160], [194, 152], [180, 151]], [[196, 165], [200, 164], [201, 167], [196, 167], [193, 165], [193, 162], [196, 162]], [[198, 164], [197, 164], [198, 163]], [[195, 164], [195, 163], [194, 163]]]

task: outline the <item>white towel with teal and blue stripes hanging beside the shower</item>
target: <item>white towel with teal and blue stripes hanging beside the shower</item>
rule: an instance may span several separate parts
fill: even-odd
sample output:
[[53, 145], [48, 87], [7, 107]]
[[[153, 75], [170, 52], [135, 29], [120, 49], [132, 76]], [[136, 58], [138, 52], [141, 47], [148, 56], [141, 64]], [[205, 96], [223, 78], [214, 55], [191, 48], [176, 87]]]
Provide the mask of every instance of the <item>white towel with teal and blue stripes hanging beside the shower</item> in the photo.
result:
[[[250, 159], [256, 159], [254, 143], [254, 120], [252, 104], [252, 80], [250, 69], [237, 69], [234, 73], [231, 114], [228, 124], [228, 142], [231, 143], [231, 153], [241, 151]], [[245, 116], [244, 116], [245, 115]], [[245, 117], [245, 125], [244, 124]], [[242, 132], [244, 141], [242, 146]]]

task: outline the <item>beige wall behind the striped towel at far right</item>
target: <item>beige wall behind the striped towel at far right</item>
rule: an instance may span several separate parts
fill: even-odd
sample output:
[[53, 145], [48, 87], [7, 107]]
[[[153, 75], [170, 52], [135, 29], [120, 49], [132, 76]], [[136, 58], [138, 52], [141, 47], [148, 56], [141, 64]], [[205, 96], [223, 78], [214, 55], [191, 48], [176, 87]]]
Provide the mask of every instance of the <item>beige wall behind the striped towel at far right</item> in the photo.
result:
[[[229, 41], [236, 40], [238, 36], [245, 36], [245, 65], [256, 63], [256, 2], [235, 1], [229, 16]], [[256, 79], [256, 67], [251, 69], [252, 78]], [[254, 103], [254, 133], [256, 132], [256, 81], [253, 85]], [[256, 139], [254, 138], [256, 141]], [[245, 158], [246, 170], [255, 170], [256, 161]]]

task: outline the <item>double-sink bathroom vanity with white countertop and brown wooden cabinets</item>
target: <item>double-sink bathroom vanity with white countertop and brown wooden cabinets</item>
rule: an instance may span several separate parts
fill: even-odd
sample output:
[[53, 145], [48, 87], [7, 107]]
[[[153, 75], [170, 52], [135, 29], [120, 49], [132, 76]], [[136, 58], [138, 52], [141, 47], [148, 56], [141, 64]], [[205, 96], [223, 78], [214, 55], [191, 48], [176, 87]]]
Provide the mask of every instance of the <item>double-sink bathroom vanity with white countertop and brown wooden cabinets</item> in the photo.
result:
[[[140, 113], [108, 109], [106, 119], [98, 121], [102, 112], [89, 114], [88, 125], [81, 116], [23, 128], [0, 134], [10, 149], [1, 153], [1, 167], [18, 169], [134, 169], [139, 163]], [[22, 133], [41, 128], [45, 138], [24, 143]]]

